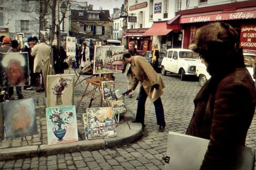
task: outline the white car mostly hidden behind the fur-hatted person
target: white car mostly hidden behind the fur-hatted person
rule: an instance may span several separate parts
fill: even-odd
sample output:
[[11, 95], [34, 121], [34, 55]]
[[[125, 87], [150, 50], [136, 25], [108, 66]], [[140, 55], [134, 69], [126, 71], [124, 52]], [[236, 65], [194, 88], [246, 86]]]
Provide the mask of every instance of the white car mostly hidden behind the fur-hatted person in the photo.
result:
[[[244, 55], [244, 64], [253, 79], [253, 67], [255, 66], [256, 52], [244, 50], [243, 55]], [[206, 71], [205, 64], [202, 63], [201, 61], [199, 64], [196, 65], [196, 76], [199, 77], [200, 86], [203, 86], [207, 82], [207, 80], [211, 78], [210, 74]], [[255, 79], [253, 80], [255, 81]]]

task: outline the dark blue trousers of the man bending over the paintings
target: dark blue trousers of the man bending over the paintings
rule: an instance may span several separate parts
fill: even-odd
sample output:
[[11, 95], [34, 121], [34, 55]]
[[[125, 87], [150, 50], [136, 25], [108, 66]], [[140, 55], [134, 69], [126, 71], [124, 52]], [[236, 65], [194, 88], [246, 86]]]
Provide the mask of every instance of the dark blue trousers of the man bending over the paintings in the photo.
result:
[[[144, 88], [141, 87], [141, 92], [139, 93], [139, 100], [138, 100], [138, 108], [136, 113], [136, 120], [144, 124], [144, 117], [145, 117], [145, 103], [146, 99], [148, 98], [148, 94], [145, 92]], [[164, 120], [164, 110], [162, 100], [159, 97], [155, 102], [155, 111], [156, 111], [156, 121], [157, 124], [160, 126], [166, 126]]]

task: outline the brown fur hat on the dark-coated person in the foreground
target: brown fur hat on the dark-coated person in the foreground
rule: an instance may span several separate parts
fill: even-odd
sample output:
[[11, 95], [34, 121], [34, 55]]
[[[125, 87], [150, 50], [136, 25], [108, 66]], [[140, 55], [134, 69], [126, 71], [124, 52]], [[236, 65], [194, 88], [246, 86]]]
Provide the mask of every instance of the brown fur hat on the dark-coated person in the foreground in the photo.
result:
[[213, 22], [199, 28], [196, 31], [194, 41], [195, 44], [191, 44], [189, 49], [200, 53], [209, 51], [213, 45], [222, 48], [235, 48], [235, 45], [238, 45], [239, 36], [231, 25], [223, 22]]

